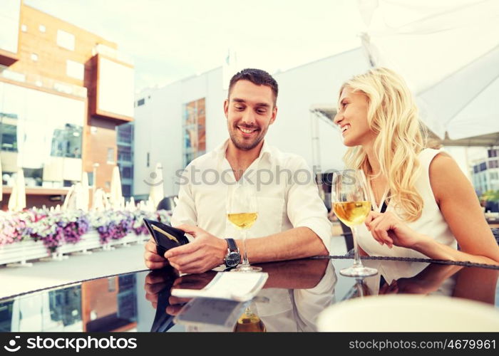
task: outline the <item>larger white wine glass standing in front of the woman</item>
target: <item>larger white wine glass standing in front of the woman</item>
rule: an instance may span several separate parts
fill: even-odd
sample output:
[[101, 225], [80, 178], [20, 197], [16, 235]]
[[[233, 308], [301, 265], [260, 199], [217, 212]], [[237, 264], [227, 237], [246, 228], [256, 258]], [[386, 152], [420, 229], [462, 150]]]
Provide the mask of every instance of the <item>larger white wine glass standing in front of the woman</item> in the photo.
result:
[[343, 268], [339, 273], [347, 277], [368, 277], [378, 273], [376, 268], [365, 267], [359, 257], [357, 244], [357, 226], [366, 221], [371, 211], [371, 201], [367, 193], [364, 172], [357, 169], [346, 169], [334, 174], [331, 189], [331, 205], [334, 214], [351, 229], [354, 239], [354, 265]]

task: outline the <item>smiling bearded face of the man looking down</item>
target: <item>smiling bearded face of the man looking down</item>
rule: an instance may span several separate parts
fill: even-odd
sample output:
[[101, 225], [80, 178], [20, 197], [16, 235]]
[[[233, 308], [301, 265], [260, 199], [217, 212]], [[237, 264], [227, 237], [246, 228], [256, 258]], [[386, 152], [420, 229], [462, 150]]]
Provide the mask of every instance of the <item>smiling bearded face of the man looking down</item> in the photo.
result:
[[230, 140], [240, 150], [252, 150], [262, 142], [275, 120], [277, 107], [272, 88], [238, 80], [224, 102]]

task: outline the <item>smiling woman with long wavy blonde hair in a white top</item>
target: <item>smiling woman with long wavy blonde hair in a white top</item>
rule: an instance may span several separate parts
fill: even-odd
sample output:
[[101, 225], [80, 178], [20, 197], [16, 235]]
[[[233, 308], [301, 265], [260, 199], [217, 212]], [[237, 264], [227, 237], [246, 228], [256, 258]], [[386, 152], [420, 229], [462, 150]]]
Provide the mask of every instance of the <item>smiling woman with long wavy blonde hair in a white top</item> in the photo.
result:
[[349, 147], [346, 166], [364, 171], [371, 190], [361, 253], [499, 264], [473, 187], [450, 156], [425, 148], [416, 104], [399, 75], [374, 68], [346, 81], [334, 122]]

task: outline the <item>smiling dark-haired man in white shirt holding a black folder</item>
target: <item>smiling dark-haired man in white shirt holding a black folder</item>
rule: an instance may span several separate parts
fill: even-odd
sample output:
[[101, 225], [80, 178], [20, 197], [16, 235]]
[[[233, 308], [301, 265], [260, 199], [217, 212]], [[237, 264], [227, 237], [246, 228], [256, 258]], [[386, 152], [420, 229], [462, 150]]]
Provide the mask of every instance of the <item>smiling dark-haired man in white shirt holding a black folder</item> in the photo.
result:
[[194, 239], [167, 251], [168, 261], [151, 239], [145, 246], [148, 268], [170, 263], [182, 273], [202, 273], [231, 266], [230, 251], [238, 255], [243, 248], [239, 239], [224, 239], [239, 236], [226, 210], [237, 184], [257, 186], [258, 218], [249, 230], [257, 239], [246, 241], [250, 263], [329, 254], [331, 225], [306, 162], [264, 140], [277, 116], [277, 92], [277, 82], [264, 70], [245, 69], [232, 77], [224, 102], [230, 139], [187, 166], [173, 211], [172, 226]]

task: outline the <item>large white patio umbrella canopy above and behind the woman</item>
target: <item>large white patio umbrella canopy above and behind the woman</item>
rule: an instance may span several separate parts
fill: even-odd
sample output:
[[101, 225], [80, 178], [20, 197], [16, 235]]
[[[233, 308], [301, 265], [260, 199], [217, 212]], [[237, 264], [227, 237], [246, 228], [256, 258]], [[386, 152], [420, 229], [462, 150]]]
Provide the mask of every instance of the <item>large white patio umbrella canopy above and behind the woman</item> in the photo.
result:
[[359, 8], [369, 63], [403, 75], [433, 134], [446, 145], [499, 143], [498, 1], [361, 0]]

